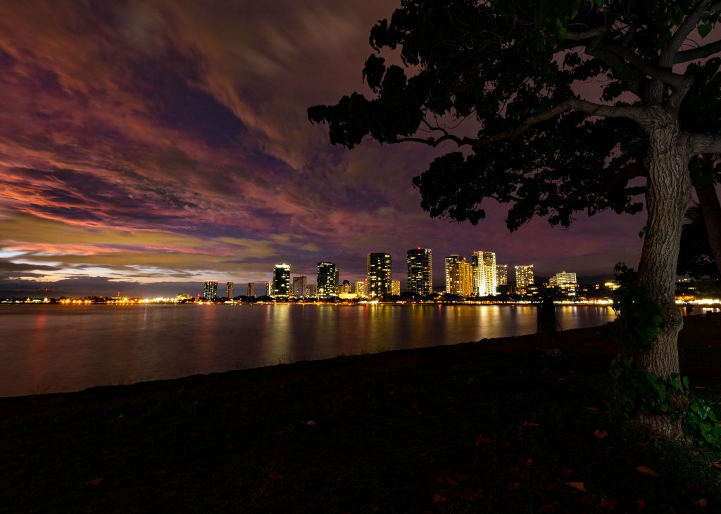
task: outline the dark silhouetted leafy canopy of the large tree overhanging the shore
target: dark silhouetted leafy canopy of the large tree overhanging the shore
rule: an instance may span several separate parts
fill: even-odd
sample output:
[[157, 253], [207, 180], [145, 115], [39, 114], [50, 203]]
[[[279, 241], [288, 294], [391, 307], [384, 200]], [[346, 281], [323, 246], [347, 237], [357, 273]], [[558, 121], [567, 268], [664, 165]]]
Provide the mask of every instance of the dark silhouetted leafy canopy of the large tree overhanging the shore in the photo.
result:
[[511, 230], [639, 212], [650, 126], [676, 120], [689, 153], [721, 151], [721, 41], [706, 39], [720, 12], [711, 0], [404, 0], [371, 30], [373, 96], [309, 118], [349, 148], [457, 145], [414, 179], [433, 217], [477, 223], [484, 199], [510, 204]]

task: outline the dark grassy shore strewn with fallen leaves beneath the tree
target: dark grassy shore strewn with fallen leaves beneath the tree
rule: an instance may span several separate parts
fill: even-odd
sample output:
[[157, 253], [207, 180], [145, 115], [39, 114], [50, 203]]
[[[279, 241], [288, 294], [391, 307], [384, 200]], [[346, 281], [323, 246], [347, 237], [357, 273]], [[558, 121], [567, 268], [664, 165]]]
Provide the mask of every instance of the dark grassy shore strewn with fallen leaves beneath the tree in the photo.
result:
[[[721, 512], [720, 455], [611, 418], [600, 329], [0, 399], [0, 512]], [[721, 410], [721, 315], [681, 367]]]

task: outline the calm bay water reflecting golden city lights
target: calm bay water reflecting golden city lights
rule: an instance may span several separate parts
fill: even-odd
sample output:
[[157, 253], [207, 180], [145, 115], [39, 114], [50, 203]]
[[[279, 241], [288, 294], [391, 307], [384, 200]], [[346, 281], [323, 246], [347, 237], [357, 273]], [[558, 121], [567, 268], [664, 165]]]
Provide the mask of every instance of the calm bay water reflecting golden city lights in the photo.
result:
[[[557, 307], [562, 328], [611, 307]], [[0, 397], [536, 331], [521, 305], [2, 305]]]

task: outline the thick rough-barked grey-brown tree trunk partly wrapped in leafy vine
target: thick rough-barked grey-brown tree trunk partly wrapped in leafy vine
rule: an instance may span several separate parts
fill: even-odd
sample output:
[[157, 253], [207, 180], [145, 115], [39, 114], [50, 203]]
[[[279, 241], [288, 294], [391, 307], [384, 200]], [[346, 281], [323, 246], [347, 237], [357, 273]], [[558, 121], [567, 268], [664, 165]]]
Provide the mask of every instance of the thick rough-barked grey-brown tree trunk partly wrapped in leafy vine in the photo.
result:
[[[666, 113], [663, 113], [666, 114]], [[668, 114], [648, 128], [650, 146], [646, 155], [648, 181], [646, 208], [648, 221], [638, 269], [638, 280], [650, 298], [658, 302], [664, 315], [663, 331], [653, 349], [640, 356], [640, 366], [668, 380], [678, 373], [678, 332], [684, 321], [676, 307], [674, 284], [681, 241], [681, 226], [691, 194], [688, 140]], [[680, 423], [668, 416], [642, 415], [641, 423], [655, 433], [681, 438]]]

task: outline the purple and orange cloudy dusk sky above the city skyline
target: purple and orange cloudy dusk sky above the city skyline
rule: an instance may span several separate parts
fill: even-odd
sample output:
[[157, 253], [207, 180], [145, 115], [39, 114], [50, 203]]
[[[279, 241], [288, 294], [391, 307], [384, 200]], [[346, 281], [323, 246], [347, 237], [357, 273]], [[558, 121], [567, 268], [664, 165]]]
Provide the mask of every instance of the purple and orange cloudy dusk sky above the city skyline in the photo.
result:
[[[509, 233], [432, 220], [411, 179], [443, 150], [328, 143], [306, 108], [368, 92], [388, 0], [10, 2], [0, 17], [0, 296], [196, 294], [317, 261], [362, 279], [366, 253], [495, 251], [536, 274], [635, 266], [645, 215], [583, 214]], [[168, 284], [180, 282], [180, 284]]]

